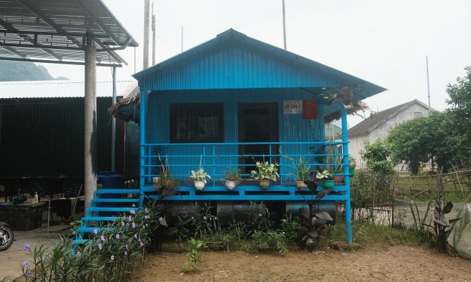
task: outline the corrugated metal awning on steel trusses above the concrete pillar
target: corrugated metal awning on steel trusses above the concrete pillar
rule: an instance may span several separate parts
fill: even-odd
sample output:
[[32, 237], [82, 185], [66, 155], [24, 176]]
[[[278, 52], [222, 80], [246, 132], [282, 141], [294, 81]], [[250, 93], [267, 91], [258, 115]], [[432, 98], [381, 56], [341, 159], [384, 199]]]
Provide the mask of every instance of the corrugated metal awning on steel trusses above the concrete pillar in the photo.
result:
[[0, 1], [0, 59], [82, 65], [87, 39], [98, 66], [127, 64], [114, 50], [138, 46], [101, 0]]

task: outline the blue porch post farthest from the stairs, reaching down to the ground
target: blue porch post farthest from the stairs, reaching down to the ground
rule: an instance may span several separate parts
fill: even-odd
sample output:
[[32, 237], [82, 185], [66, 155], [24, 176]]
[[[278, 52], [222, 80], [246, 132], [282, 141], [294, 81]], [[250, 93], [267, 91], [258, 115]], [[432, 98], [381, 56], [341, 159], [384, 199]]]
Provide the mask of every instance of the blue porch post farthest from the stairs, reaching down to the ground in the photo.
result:
[[350, 164], [348, 160], [348, 129], [347, 129], [347, 111], [344, 105], [341, 106], [341, 140], [342, 154], [344, 155], [344, 185], [345, 191], [345, 224], [346, 236], [349, 244], [352, 243], [352, 214], [350, 207]]

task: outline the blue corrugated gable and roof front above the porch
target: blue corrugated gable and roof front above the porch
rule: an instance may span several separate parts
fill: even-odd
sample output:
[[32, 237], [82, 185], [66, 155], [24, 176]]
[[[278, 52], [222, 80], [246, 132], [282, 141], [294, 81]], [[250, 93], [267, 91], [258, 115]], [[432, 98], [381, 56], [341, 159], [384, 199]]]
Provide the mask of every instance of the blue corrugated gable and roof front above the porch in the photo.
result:
[[385, 88], [229, 29], [134, 75], [141, 90], [362, 86], [362, 100]]

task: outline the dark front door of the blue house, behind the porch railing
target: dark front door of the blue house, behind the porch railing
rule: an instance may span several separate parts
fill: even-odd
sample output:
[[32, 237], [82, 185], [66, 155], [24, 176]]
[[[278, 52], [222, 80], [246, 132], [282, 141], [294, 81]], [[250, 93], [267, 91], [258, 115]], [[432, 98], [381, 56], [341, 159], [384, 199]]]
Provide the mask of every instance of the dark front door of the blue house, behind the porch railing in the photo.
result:
[[[238, 105], [239, 142], [278, 142], [278, 103], [254, 103]], [[278, 153], [277, 144], [247, 144], [239, 146], [239, 164], [255, 164], [255, 161], [270, 161]], [[272, 162], [278, 158], [272, 157]], [[242, 166], [242, 173], [250, 173], [255, 165]]]

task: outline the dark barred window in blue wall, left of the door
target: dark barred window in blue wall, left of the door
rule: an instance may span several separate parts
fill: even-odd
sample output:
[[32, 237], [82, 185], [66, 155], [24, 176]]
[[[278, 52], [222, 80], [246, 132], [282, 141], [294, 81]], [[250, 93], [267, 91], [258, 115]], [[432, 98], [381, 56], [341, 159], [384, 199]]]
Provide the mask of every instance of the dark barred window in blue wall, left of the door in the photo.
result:
[[170, 104], [170, 142], [224, 141], [224, 104]]

